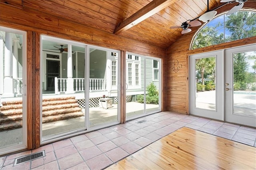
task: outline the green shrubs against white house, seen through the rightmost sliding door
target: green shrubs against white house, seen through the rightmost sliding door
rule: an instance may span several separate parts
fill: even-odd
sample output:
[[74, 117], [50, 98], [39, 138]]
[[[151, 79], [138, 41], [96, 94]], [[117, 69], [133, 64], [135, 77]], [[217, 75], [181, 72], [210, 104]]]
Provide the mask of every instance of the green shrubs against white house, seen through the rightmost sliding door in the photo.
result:
[[[159, 92], [156, 89], [154, 83], [150, 83], [146, 87], [146, 104], [158, 104], [159, 102]], [[138, 103], [144, 103], [144, 95], [137, 95], [136, 100]]]

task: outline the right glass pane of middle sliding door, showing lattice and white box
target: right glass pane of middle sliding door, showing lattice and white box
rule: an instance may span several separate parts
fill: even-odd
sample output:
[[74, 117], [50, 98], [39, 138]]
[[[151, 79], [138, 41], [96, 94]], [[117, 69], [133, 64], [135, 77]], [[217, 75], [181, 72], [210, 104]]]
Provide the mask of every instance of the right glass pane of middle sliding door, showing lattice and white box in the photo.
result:
[[90, 48], [90, 127], [118, 121], [118, 54]]

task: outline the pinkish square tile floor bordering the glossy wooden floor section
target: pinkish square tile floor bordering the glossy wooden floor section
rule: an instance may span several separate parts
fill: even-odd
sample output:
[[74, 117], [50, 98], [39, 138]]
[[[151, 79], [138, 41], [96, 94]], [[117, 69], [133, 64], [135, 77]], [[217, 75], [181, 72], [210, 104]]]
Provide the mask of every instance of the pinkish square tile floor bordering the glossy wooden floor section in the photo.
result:
[[[140, 120], [147, 122], [136, 123]], [[256, 147], [255, 128], [160, 112], [125, 124], [54, 142], [38, 149], [3, 156], [0, 158], [0, 169], [98, 170], [184, 126]], [[13, 166], [15, 158], [41, 150], [45, 150], [45, 157]]]

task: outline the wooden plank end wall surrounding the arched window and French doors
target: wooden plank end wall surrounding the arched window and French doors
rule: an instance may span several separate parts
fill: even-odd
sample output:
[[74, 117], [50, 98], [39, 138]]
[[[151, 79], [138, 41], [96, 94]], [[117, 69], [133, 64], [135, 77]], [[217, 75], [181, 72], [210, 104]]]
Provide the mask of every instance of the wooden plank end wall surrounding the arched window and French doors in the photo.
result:
[[[244, 5], [247, 8], [254, 8], [256, 6], [255, 2], [246, 2]], [[218, 13], [224, 12], [230, 9], [230, 7], [224, 6], [220, 8]], [[192, 32], [184, 34], [178, 41], [173, 43], [167, 49], [166, 57], [166, 92], [167, 92], [167, 110], [175, 111], [178, 113], [189, 114], [189, 86], [188, 86], [188, 56], [197, 53], [204, 53], [209, 51], [215, 51], [220, 49], [227, 49], [231, 47], [237, 47], [241, 45], [247, 45], [251, 43], [256, 43], [256, 37], [246, 38], [242, 40], [237, 40], [234, 42], [222, 43], [219, 45], [212, 45], [209, 47], [204, 47], [200, 49], [190, 49], [190, 42], [197, 29], [192, 28]], [[178, 60], [179, 64], [182, 65], [182, 68], [175, 73], [173, 70], [174, 61]], [[177, 65], [176, 65], [177, 66]]]

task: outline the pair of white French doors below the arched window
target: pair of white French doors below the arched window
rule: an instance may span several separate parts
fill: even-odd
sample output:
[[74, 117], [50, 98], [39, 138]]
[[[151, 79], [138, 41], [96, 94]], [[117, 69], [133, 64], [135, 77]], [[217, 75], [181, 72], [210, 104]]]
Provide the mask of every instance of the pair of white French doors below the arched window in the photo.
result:
[[256, 45], [189, 60], [190, 114], [256, 127]]

